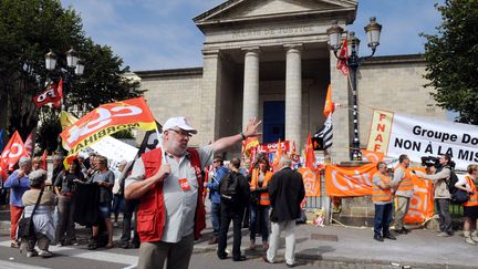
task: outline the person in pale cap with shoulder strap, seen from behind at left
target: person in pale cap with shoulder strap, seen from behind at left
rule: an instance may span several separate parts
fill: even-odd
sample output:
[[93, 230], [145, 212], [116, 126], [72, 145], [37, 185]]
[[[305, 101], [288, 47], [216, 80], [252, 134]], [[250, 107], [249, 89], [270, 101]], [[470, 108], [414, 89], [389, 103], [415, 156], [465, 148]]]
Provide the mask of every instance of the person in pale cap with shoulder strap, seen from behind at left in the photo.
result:
[[[27, 257], [41, 256], [43, 258], [52, 257], [49, 251], [50, 242], [54, 240], [55, 229], [53, 226], [53, 208], [55, 195], [44, 189], [46, 180], [46, 172], [37, 169], [29, 175], [31, 189], [27, 190], [22, 197], [24, 206], [24, 218], [32, 217], [33, 208], [40, 197], [40, 203], [32, 217], [35, 236], [22, 238], [22, 249], [27, 249]], [[34, 249], [35, 244], [40, 248], [40, 252]]]

